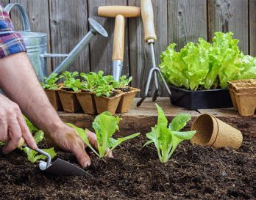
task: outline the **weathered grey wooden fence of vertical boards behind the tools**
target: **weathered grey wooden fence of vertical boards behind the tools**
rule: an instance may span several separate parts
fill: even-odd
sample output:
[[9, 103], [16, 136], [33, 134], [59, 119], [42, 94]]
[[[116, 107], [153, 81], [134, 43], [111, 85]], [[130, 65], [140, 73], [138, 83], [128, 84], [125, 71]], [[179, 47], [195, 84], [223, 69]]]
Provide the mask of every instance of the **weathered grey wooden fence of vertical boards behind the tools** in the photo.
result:
[[[102, 5], [140, 6], [139, 0], [1, 0], [2, 4], [19, 2], [26, 7], [32, 31], [49, 34], [49, 52], [68, 53], [88, 32], [88, 18], [101, 23], [110, 37], [96, 36], [69, 70], [111, 72], [113, 18], [97, 16]], [[256, 0], [153, 0], [157, 63], [160, 53], [171, 43], [182, 48], [199, 37], [211, 40], [216, 31], [235, 33], [241, 50], [256, 56]], [[19, 15], [11, 13], [16, 29], [21, 29]], [[49, 61], [49, 71], [60, 59]], [[124, 74], [132, 75], [132, 86], [143, 89], [151, 67], [149, 47], [143, 41], [141, 18], [126, 20]], [[166, 95], [162, 92], [162, 95]]]

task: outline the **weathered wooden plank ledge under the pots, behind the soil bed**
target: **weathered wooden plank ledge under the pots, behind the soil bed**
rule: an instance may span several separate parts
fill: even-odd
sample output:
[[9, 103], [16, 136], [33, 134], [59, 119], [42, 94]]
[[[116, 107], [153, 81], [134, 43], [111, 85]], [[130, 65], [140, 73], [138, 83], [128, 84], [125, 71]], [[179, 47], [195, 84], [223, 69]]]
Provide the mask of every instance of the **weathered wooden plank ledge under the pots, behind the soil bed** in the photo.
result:
[[[157, 123], [157, 108], [150, 98], [146, 98], [143, 105], [140, 108], [136, 107], [138, 98], [134, 100], [132, 107], [127, 114], [119, 114], [122, 120], [120, 122], [121, 133], [134, 133], [141, 132], [146, 133]], [[157, 99], [157, 104], [163, 108], [163, 111], [170, 121], [177, 114], [186, 113], [191, 115], [191, 122], [188, 123], [187, 129], [191, 127], [192, 122], [200, 114], [213, 114], [218, 119], [223, 120], [229, 125], [241, 130], [244, 135], [256, 137], [256, 115], [250, 117], [244, 117], [238, 115], [233, 108], [222, 109], [207, 109], [199, 111], [188, 111], [185, 108], [171, 105], [169, 98], [162, 97]], [[61, 119], [64, 122], [71, 122], [79, 127], [90, 127], [93, 122], [94, 116], [86, 114], [68, 114], [59, 112]]]

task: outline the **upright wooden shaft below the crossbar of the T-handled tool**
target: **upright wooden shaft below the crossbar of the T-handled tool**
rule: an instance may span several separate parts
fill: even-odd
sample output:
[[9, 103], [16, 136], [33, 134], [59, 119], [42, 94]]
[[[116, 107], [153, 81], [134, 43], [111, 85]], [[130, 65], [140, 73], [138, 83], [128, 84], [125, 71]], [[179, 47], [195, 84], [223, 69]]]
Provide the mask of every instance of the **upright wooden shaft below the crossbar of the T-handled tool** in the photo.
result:
[[112, 60], [124, 60], [124, 16], [117, 15], [115, 18], [115, 31], [113, 42]]

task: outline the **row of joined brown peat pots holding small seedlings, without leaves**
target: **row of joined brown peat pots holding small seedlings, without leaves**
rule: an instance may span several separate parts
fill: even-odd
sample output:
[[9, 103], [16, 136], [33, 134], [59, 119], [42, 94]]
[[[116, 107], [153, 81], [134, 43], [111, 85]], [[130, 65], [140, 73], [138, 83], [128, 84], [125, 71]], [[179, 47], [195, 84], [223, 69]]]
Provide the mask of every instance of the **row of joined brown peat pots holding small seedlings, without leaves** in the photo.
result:
[[87, 91], [70, 91], [60, 86], [59, 89], [44, 89], [51, 105], [56, 111], [75, 113], [83, 111], [85, 114], [101, 114], [109, 111], [111, 114], [129, 111], [135, 95], [140, 89], [127, 87], [127, 92], [116, 89], [110, 97], [99, 96]]

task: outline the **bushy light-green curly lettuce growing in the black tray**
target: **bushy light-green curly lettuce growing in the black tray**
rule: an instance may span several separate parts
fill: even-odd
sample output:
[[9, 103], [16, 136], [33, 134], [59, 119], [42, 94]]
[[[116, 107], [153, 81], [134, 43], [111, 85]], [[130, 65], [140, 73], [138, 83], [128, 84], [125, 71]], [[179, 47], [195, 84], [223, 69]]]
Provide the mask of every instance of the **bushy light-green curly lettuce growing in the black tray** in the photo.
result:
[[199, 38], [180, 51], [171, 43], [161, 53], [160, 70], [168, 84], [185, 89], [226, 89], [227, 81], [256, 78], [256, 58], [244, 55], [233, 33], [216, 32], [213, 42]]

